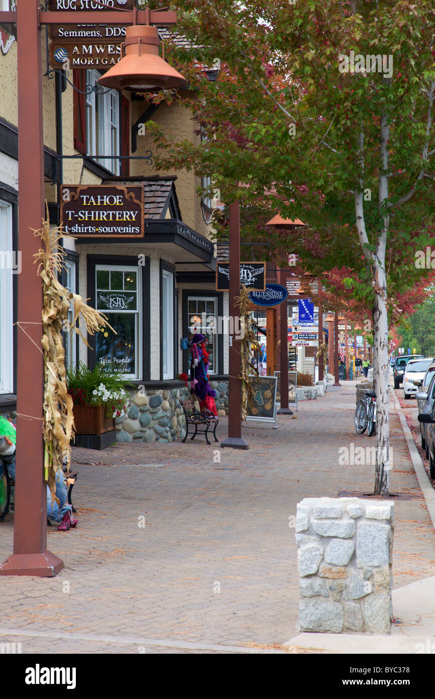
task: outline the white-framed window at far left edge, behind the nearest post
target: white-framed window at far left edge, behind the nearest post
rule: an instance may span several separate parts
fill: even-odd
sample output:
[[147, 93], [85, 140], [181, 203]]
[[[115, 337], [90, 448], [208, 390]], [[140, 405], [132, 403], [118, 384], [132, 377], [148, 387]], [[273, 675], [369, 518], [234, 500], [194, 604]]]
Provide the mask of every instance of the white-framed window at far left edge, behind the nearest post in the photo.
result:
[[0, 394], [13, 393], [12, 245], [12, 206], [0, 200]]

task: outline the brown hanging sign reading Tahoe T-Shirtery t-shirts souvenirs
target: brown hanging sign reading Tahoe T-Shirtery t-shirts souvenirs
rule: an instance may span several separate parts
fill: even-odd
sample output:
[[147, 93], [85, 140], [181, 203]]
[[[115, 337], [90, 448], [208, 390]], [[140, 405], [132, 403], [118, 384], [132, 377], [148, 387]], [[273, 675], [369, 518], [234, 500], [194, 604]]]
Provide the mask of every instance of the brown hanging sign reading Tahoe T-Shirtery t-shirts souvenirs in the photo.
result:
[[143, 238], [143, 185], [62, 185], [61, 224], [75, 238]]

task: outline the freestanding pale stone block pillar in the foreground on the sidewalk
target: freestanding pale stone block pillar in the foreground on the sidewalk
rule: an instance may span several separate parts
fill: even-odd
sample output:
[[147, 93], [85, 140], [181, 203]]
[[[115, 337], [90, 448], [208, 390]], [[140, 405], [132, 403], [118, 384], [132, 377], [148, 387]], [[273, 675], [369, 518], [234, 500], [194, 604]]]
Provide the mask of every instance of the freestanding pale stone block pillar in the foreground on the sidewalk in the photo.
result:
[[393, 515], [389, 500], [297, 504], [301, 631], [390, 632]]

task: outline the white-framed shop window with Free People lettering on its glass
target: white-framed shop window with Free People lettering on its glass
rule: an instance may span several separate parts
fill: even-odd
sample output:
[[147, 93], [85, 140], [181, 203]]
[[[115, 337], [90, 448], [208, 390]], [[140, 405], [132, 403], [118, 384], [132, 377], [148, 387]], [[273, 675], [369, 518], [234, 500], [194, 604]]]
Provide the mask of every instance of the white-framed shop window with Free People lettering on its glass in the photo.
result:
[[142, 371], [142, 304], [139, 267], [96, 265], [96, 309], [115, 330], [96, 333], [96, 362], [131, 379]]

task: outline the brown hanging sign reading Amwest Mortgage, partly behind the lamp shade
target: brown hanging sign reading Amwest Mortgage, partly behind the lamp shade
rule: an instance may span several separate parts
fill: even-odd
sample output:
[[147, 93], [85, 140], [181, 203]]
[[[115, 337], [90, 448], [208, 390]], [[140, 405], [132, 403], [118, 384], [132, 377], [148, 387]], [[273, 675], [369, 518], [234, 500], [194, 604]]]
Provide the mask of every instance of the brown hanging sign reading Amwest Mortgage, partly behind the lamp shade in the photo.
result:
[[120, 43], [57, 43], [50, 44], [50, 65], [59, 68], [69, 62], [68, 69], [78, 70], [115, 66], [121, 58]]

